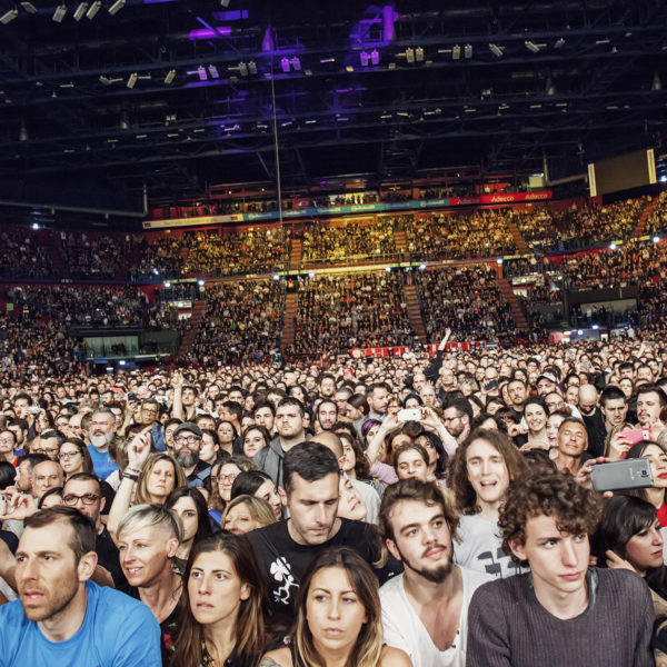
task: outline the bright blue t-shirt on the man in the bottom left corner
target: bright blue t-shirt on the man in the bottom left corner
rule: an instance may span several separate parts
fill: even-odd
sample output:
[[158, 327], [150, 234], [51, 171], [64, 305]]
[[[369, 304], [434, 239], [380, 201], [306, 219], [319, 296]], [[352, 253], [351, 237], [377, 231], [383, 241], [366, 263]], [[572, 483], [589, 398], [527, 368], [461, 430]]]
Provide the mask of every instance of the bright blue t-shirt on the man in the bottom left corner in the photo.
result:
[[20, 600], [0, 607], [0, 667], [161, 667], [160, 626], [142, 603], [92, 581], [86, 617], [64, 641], [50, 641]]

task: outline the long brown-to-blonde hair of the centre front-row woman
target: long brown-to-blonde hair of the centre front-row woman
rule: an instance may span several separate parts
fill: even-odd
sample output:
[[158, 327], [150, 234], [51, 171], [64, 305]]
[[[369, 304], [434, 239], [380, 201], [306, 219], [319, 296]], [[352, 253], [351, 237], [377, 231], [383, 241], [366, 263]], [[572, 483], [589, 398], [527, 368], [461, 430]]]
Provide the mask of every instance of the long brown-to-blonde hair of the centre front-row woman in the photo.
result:
[[376, 667], [382, 653], [382, 618], [378, 579], [372, 569], [350, 547], [334, 547], [320, 551], [310, 564], [297, 594], [297, 627], [292, 641], [299, 667], [325, 667], [326, 659], [315, 648], [312, 633], [308, 626], [306, 604], [312, 577], [325, 568], [339, 567], [345, 570], [349, 583], [366, 611], [366, 623], [350, 650], [346, 667]]

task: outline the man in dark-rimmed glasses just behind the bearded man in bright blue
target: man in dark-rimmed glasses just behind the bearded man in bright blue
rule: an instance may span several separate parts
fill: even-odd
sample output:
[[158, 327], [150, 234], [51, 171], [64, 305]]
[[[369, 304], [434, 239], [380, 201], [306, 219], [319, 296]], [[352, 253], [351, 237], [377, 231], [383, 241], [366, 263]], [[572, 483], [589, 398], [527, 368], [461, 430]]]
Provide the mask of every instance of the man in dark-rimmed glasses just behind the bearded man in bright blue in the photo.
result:
[[62, 489], [62, 501], [68, 507], [78, 509], [94, 524], [94, 551], [98, 555], [94, 581], [100, 585], [112, 584], [119, 590], [128, 593], [129, 586], [120, 567], [118, 548], [100, 518], [104, 509], [104, 498], [97, 477], [88, 472], [72, 475]]

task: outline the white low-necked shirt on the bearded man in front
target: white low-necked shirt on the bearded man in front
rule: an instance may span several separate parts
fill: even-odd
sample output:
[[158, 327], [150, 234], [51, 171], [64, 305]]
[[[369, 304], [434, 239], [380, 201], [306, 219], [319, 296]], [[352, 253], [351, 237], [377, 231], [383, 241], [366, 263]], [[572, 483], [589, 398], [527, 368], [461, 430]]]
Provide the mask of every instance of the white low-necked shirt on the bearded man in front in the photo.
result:
[[389, 579], [380, 588], [385, 644], [405, 650], [414, 667], [465, 667], [468, 643], [468, 606], [478, 586], [492, 581], [494, 577], [461, 568], [464, 601], [459, 629], [454, 644], [440, 650], [430, 638], [421, 619], [408, 600], [404, 588], [404, 575]]

